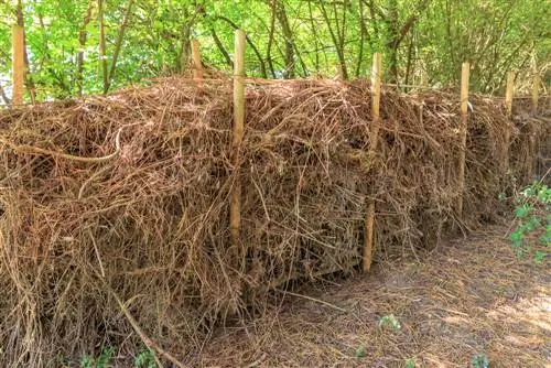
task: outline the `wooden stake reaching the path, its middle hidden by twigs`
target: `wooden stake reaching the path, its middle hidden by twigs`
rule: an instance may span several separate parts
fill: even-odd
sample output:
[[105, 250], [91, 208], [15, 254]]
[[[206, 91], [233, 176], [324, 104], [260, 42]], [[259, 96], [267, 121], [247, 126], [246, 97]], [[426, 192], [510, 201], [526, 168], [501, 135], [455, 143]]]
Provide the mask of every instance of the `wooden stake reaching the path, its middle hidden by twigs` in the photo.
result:
[[[381, 54], [374, 54], [374, 64], [371, 67], [371, 119], [372, 132], [369, 142], [369, 158], [375, 159], [377, 152], [377, 142], [379, 141], [379, 106], [380, 106], [380, 84], [381, 84]], [[367, 205], [364, 240], [364, 260], [361, 269], [369, 271], [372, 262], [374, 239], [375, 239], [375, 199], [370, 198]]]

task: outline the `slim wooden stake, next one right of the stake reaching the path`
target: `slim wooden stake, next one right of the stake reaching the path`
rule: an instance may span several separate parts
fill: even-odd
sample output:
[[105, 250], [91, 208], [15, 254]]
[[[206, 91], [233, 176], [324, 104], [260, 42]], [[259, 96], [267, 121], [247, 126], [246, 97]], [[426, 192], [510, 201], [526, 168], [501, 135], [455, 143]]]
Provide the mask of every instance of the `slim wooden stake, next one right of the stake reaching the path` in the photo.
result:
[[465, 187], [465, 153], [467, 147], [467, 123], [468, 123], [468, 75], [471, 65], [463, 63], [461, 71], [461, 127], [460, 127], [460, 170], [458, 176], [458, 199], [457, 215], [463, 216], [463, 190]]

